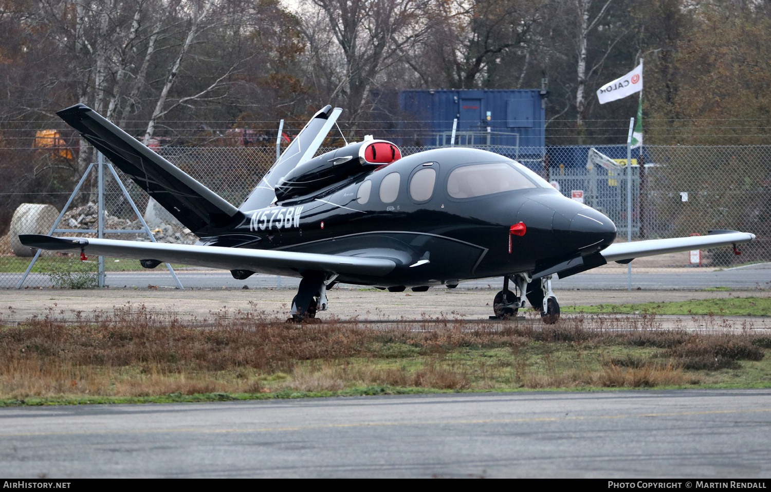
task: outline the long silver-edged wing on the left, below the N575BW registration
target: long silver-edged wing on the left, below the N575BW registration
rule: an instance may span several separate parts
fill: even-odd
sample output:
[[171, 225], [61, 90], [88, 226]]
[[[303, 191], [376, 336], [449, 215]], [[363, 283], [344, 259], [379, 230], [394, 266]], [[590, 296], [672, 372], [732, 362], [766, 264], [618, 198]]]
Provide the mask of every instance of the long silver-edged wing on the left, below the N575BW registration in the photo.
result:
[[338, 274], [382, 276], [396, 268], [396, 263], [383, 258], [338, 256], [335, 254], [266, 251], [247, 248], [223, 248], [191, 244], [146, 243], [115, 239], [53, 238], [42, 234], [19, 234], [22, 244], [30, 248], [52, 251], [83, 251], [86, 254], [157, 260], [224, 270], [250, 270], [272, 275], [288, 275], [291, 271], [329, 271]]

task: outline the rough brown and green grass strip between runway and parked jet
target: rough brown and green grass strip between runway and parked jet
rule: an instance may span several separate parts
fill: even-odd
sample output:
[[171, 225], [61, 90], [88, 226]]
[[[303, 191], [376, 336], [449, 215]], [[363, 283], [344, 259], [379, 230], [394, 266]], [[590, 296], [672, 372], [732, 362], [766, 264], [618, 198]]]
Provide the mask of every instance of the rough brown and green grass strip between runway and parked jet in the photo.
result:
[[655, 315], [385, 328], [241, 311], [190, 326], [133, 305], [58, 315], [0, 328], [0, 405], [771, 386], [768, 336], [662, 330]]

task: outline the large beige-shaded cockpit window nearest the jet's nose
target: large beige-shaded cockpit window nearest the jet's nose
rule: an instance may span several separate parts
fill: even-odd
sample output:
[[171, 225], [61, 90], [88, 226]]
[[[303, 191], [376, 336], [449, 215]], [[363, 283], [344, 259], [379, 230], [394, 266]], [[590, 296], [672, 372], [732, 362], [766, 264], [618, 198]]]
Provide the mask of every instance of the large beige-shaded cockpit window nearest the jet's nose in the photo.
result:
[[534, 187], [524, 174], [503, 162], [458, 167], [447, 180], [447, 193], [453, 198], [482, 197]]

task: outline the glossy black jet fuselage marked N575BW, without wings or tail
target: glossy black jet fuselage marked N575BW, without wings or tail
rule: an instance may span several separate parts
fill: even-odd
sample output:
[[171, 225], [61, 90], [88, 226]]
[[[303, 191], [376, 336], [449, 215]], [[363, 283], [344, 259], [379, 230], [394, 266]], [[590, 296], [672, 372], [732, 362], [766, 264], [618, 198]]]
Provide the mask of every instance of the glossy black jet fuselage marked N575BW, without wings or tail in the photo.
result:
[[[460, 187], [458, 178], [449, 182], [460, 167], [469, 167], [458, 174], [469, 181], [476, 169], [487, 169], [475, 166], [500, 163], [517, 169], [532, 185], [463, 197], [473, 192], [461, 188], [473, 183], [464, 184], [463, 178]], [[434, 170], [433, 187], [430, 180], [419, 179], [415, 186], [423, 184], [423, 189], [413, 190], [415, 175], [429, 168]], [[362, 187], [369, 188], [367, 197]], [[616, 236], [615, 225], [600, 212], [564, 197], [513, 160], [470, 148], [412, 154], [313, 194], [241, 211], [246, 220], [235, 230], [201, 238], [201, 244], [361, 253], [395, 261], [396, 268], [385, 277], [338, 277], [379, 287], [452, 285], [470, 278], [537, 273], [596, 254]], [[511, 234], [510, 227], [519, 223], [524, 234]]]

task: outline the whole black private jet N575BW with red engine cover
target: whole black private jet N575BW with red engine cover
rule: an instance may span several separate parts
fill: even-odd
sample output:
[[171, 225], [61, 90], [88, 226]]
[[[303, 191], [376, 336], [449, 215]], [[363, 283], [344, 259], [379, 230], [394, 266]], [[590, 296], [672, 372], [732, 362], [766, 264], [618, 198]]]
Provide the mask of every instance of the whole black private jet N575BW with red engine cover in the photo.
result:
[[604, 214], [564, 197], [520, 163], [480, 149], [449, 147], [402, 157], [365, 137], [314, 157], [341, 113], [326, 106], [291, 141], [241, 207], [82, 104], [57, 113], [200, 241], [193, 245], [22, 234], [22, 244], [140, 260], [301, 278], [295, 321], [327, 308], [336, 282], [400, 292], [454, 288], [503, 276], [498, 318], [540, 308], [559, 317], [552, 275], [574, 275], [608, 261], [752, 241], [753, 234], [616, 243]]

